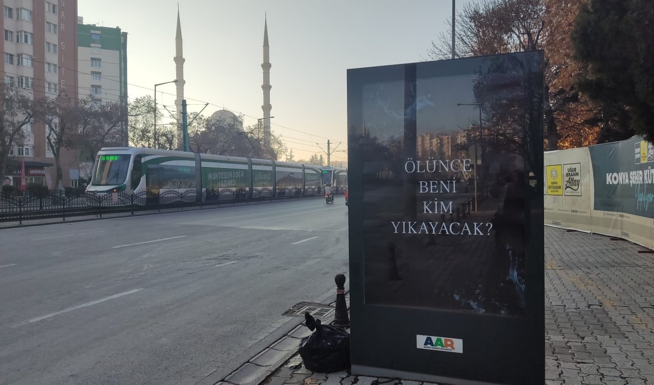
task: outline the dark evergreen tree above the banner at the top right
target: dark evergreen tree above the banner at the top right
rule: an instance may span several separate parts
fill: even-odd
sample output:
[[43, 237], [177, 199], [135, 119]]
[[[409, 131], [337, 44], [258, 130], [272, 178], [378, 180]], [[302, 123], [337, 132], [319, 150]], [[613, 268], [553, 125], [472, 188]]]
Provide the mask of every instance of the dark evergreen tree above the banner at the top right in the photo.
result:
[[599, 142], [654, 139], [652, 25], [651, 0], [589, 0], [577, 14], [572, 41], [588, 67], [578, 87], [600, 106]]

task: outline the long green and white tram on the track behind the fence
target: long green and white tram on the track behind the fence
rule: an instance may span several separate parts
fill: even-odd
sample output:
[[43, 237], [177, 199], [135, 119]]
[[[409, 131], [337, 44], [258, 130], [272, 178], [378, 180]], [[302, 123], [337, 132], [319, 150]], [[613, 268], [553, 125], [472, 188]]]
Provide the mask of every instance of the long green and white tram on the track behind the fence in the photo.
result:
[[97, 153], [86, 190], [160, 197], [183, 194], [210, 201], [230, 199], [224, 196], [230, 194], [233, 199], [235, 195], [240, 198], [319, 195], [327, 182], [336, 186], [338, 193], [344, 192], [347, 169], [152, 148], [110, 147]]

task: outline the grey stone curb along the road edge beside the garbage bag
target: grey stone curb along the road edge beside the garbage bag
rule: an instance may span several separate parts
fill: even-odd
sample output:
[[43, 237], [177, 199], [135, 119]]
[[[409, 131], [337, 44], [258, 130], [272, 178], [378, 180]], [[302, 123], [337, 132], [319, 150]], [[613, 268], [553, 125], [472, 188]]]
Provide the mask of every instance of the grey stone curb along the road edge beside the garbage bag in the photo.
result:
[[[349, 297], [349, 284], [345, 285], [346, 298]], [[324, 293], [318, 297], [315, 303], [322, 305], [334, 305], [336, 303], [336, 289]], [[334, 321], [336, 312], [331, 316], [321, 319], [323, 324], [330, 324]], [[275, 373], [284, 362], [298, 354], [298, 349], [303, 338], [309, 337], [310, 331], [303, 324], [303, 318], [298, 318], [298, 325], [286, 333], [284, 337], [278, 339], [270, 346], [262, 350], [259, 354], [252, 357], [247, 363], [244, 363], [218, 382], [212, 382], [212, 385], [260, 385], [267, 378]]]

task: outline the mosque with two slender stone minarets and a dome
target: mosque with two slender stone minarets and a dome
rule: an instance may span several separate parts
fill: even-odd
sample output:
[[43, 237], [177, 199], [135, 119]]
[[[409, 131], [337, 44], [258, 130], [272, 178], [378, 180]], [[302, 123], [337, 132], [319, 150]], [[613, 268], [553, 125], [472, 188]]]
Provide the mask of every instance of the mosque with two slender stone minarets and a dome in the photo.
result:
[[[270, 104], [270, 57], [269, 57], [268, 46], [268, 24], [267, 20], [264, 19], [264, 62], [261, 63], [261, 68], [264, 71], [264, 84], [261, 85], [262, 90], [264, 91], [264, 105], [261, 106], [261, 109], [264, 111], [264, 118], [262, 118], [262, 126], [264, 129], [264, 143], [270, 144], [270, 110], [273, 106]], [[175, 35], [175, 80], [177, 82], [177, 98], [175, 99], [175, 107], [177, 107], [177, 120], [182, 121], [182, 99], [184, 99], [184, 55], [182, 54], [182, 25], [179, 19], [179, 8], [177, 9], [177, 33]], [[236, 118], [236, 115], [230, 110], [217, 110], [211, 114], [211, 118], [216, 120], [230, 120]], [[241, 129], [243, 128], [243, 122], [240, 125]], [[179, 132], [178, 136], [181, 138], [182, 133]]]

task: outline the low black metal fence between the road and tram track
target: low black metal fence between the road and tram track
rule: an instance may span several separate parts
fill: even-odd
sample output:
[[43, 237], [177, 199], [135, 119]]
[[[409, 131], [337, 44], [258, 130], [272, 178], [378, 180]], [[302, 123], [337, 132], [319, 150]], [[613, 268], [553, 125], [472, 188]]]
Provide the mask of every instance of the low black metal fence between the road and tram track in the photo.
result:
[[[66, 218], [81, 215], [102, 217], [115, 212], [134, 214], [143, 210], [184, 209], [184, 207], [204, 207], [236, 205], [237, 203], [262, 203], [304, 197], [319, 196], [320, 188], [271, 188], [262, 189], [219, 189], [204, 190], [165, 190], [160, 193], [65, 193], [55, 191], [34, 193], [32, 195], [0, 195], [0, 222], [19, 222], [25, 220]], [[338, 189], [336, 193], [344, 193]]]

